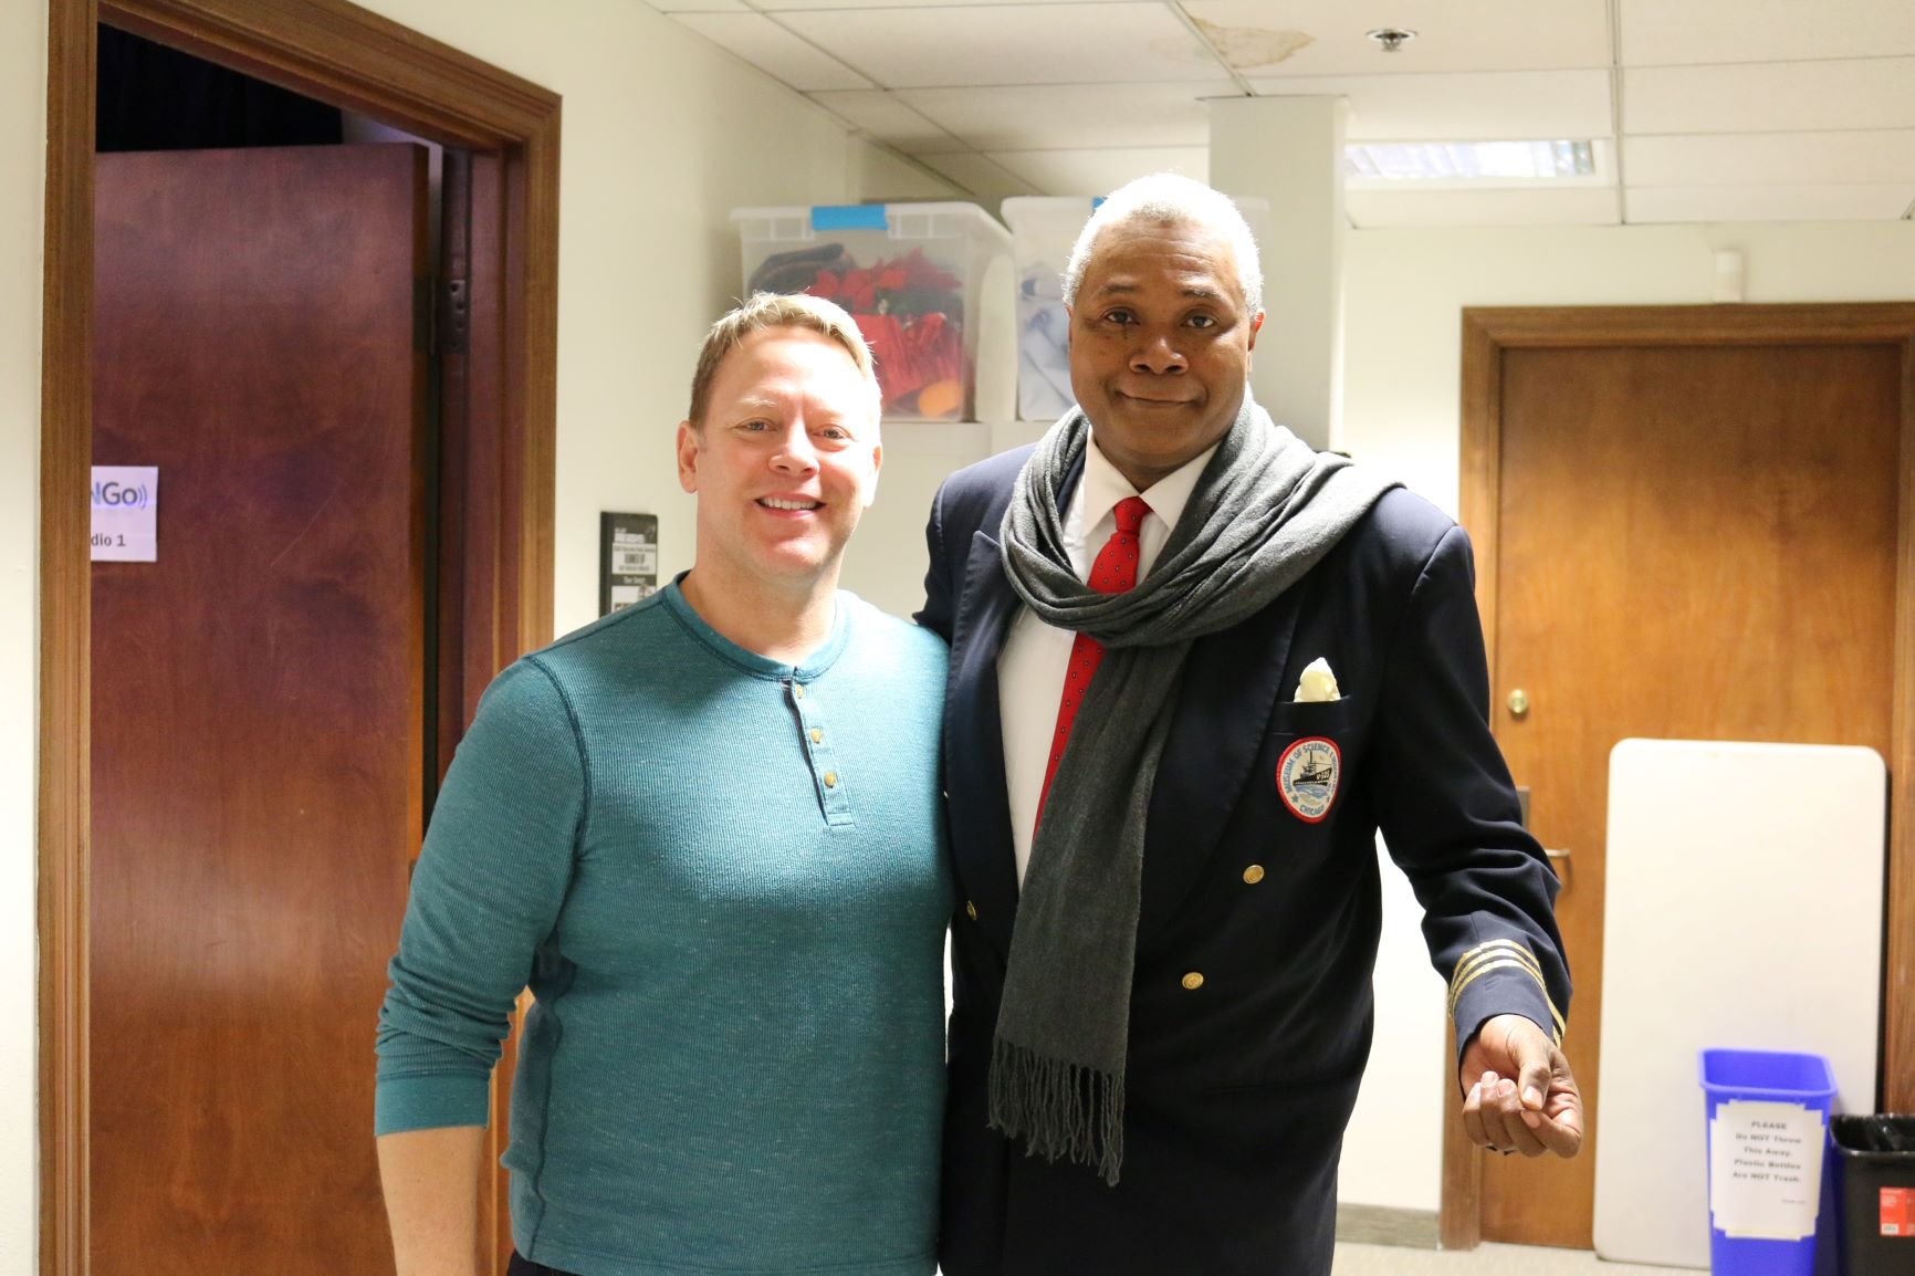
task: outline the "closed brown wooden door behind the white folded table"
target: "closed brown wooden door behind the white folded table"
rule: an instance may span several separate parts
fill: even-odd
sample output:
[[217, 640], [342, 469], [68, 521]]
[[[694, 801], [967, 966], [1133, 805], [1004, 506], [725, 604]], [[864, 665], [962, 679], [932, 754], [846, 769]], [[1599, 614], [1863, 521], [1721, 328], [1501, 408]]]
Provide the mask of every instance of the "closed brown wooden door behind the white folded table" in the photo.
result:
[[[1614, 743], [1894, 757], [1902, 395], [1900, 343], [1499, 351], [1494, 724], [1536, 835], [1570, 851], [1565, 1046], [1591, 1128]], [[1588, 1249], [1599, 1151], [1486, 1157], [1482, 1236]]]

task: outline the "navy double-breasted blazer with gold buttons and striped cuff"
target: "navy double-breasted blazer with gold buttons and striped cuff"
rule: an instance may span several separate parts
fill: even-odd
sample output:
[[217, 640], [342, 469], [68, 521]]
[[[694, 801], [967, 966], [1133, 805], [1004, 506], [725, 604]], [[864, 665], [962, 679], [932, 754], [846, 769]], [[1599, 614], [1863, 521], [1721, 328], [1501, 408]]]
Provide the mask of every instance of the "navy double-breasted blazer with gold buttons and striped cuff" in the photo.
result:
[[[998, 529], [1028, 454], [946, 479], [917, 615], [952, 644], [944, 772], [961, 902], [942, 1270], [1327, 1276], [1337, 1155], [1369, 1056], [1377, 830], [1423, 904], [1457, 1040], [1503, 1012], [1561, 1035], [1568, 1008], [1557, 881], [1490, 736], [1469, 538], [1390, 490], [1281, 598], [1191, 648], [1145, 826], [1111, 1188], [986, 1127], [1017, 920], [998, 653], [1021, 602]], [[1316, 657], [1342, 697], [1295, 703]], [[1337, 766], [1327, 810], [1321, 786], [1296, 787], [1300, 741], [1319, 772]]]

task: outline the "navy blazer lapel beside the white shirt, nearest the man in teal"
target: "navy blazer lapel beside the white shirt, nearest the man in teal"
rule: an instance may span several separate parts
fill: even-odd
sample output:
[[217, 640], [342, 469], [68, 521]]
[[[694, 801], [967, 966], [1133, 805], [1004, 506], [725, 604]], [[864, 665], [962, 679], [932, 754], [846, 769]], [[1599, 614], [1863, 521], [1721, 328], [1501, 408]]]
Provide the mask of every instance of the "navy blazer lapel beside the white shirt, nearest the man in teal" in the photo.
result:
[[998, 713], [998, 653], [1017, 613], [1017, 592], [1003, 575], [998, 542], [979, 531], [965, 561], [963, 600], [952, 623], [950, 694], [944, 707], [950, 741], [952, 858], [958, 885], [977, 908], [977, 922], [1011, 952], [1017, 916], [1017, 853], [1011, 845], [1011, 799], [1003, 784], [1003, 718]]

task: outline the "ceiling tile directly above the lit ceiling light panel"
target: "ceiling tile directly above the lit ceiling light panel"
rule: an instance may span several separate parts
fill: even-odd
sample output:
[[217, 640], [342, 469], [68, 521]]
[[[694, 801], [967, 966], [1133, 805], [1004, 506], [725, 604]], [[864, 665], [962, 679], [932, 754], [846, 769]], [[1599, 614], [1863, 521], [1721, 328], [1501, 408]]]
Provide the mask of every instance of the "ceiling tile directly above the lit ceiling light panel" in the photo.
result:
[[1352, 142], [1607, 138], [1609, 71], [1252, 79], [1260, 96], [1348, 98]]

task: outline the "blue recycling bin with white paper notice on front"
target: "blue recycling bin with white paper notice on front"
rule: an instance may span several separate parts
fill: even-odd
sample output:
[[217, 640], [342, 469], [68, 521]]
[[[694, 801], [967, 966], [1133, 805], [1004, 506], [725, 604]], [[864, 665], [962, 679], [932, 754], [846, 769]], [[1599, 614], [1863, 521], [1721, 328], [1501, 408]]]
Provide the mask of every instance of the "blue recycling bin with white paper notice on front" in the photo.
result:
[[[1815, 1276], [1835, 1069], [1819, 1054], [1704, 1050], [1708, 1270]], [[1827, 1270], [1827, 1265], [1823, 1265]]]

